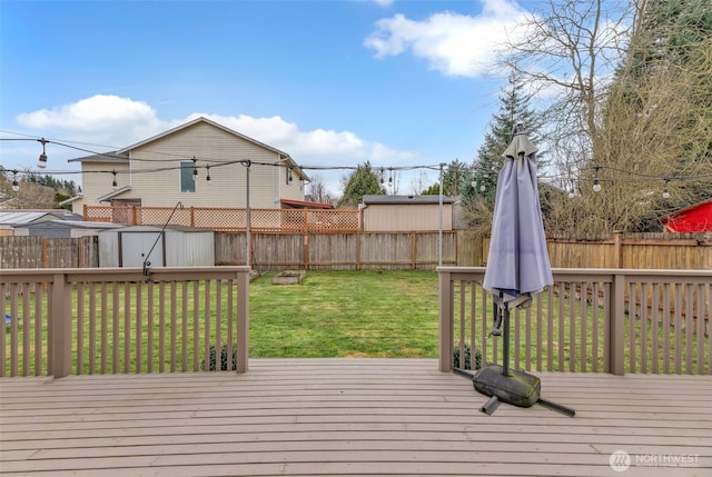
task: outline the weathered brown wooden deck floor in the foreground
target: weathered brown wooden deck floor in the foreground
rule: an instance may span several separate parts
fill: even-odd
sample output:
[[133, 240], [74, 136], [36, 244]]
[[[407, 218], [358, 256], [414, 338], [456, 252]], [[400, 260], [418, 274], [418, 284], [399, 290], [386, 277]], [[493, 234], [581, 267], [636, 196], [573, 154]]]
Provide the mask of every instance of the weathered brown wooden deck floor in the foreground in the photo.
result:
[[[712, 377], [538, 374], [486, 398], [436, 360], [253, 359], [246, 375], [0, 379], [3, 476], [711, 476]], [[627, 470], [612, 453], [624, 450]], [[624, 456], [623, 456], [624, 458]]]

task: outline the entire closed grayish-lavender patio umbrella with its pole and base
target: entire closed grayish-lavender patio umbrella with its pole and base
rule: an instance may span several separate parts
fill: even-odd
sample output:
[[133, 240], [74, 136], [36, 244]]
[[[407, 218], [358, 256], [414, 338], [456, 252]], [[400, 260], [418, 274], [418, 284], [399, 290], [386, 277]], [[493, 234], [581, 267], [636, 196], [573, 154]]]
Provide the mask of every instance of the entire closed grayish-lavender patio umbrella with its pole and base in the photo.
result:
[[527, 306], [534, 294], [554, 284], [536, 188], [536, 151], [522, 125], [517, 125], [497, 177], [483, 281], [483, 287], [494, 296], [492, 335], [498, 336], [502, 327], [504, 362], [483, 367], [472, 379], [476, 390], [491, 396], [481, 409], [487, 415], [503, 400], [521, 407], [538, 403], [573, 417], [573, 409], [541, 398], [541, 380], [536, 376], [510, 370], [510, 310]]

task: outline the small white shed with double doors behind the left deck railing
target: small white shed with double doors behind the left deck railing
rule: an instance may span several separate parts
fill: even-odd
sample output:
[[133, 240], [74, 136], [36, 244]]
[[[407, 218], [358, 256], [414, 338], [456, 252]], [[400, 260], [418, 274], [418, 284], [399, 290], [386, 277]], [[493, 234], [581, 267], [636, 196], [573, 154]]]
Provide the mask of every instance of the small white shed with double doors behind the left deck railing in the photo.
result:
[[151, 267], [211, 267], [215, 265], [212, 230], [134, 226], [99, 232], [100, 267], [142, 267], [146, 260]]

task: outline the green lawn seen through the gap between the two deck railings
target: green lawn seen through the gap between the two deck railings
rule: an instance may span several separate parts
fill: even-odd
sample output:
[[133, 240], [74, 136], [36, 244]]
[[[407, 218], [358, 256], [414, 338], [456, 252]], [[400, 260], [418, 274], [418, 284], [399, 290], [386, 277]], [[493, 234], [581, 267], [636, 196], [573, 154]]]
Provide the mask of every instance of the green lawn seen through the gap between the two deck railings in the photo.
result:
[[299, 285], [250, 284], [256, 358], [436, 358], [435, 271], [307, 271]]

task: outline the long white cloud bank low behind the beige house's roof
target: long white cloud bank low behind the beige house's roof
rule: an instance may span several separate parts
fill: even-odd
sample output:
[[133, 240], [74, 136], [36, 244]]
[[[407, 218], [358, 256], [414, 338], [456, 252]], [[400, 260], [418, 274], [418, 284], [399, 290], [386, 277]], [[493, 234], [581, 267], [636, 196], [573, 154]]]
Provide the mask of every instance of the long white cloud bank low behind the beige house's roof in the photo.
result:
[[417, 157], [416, 152], [372, 142], [352, 131], [300, 130], [298, 125], [279, 116], [254, 118], [195, 112], [184, 119], [165, 121], [148, 103], [117, 96], [97, 95], [52, 109], [24, 112], [17, 121], [26, 128], [42, 130], [43, 136], [55, 131], [57, 138], [66, 140], [125, 148], [201, 116], [280, 149], [303, 166], [357, 166], [366, 160], [395, 166], [397, 161]]

